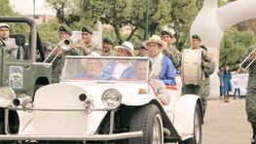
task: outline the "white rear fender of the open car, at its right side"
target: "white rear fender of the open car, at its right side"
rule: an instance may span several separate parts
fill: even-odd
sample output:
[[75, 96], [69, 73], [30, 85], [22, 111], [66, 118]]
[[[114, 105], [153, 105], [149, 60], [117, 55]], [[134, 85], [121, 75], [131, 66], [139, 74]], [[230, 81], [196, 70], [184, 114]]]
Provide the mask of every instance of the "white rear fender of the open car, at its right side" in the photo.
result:
[[173, 124], [178, 133], [193, 134], [195, 110], [199, 99], [198, 95], [186, 94], [182, 95], [175, 104]]

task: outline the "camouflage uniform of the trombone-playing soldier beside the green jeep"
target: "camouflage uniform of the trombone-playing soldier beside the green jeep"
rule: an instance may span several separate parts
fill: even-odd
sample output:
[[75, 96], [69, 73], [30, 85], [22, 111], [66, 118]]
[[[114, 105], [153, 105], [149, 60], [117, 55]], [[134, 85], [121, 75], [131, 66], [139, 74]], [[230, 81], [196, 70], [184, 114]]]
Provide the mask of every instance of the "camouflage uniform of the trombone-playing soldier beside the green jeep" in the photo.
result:
[[[61, 70], [64, 64], [65, 56], [66, 55], [83, 55], [83, 52], [79, 49], [72, 48], [69, 52], [63, 52], [62, 54], [58, 55], [53, 62], [53, 71], [52, 71], [52, 83], [59, 82], [59, 76], [61, 74]], [[51, 59], [53, 59], [55, 55], [51, 55]]]

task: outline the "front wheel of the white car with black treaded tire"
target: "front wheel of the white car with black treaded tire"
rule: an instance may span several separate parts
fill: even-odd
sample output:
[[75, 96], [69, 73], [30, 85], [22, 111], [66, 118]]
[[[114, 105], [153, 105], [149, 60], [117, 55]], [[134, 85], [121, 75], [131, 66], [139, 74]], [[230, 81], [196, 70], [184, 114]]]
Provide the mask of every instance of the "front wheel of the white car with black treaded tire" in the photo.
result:
[[162, 115], [156, 105], [146, 105], [132, 114], [129, 131], [137, 130], [142, 130], [143, 136], [129, 139], [129, 144], [164, 143]]

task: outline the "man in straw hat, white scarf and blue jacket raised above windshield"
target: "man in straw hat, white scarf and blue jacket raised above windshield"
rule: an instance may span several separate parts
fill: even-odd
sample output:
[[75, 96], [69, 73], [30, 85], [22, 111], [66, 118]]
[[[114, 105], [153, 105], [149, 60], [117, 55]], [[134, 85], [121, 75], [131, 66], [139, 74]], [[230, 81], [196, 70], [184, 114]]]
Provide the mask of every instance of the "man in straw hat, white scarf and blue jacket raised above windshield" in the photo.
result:
[[165, 85], [175, 85], [174, 66], [171, 60], [162, 52], [167, 45], [158, 35], [153, 35], [142, 45], [148, 49], [150, 57], [150, 84], [159, 94], [163, 104], [167, 105], [170, 96], [165, 89]]

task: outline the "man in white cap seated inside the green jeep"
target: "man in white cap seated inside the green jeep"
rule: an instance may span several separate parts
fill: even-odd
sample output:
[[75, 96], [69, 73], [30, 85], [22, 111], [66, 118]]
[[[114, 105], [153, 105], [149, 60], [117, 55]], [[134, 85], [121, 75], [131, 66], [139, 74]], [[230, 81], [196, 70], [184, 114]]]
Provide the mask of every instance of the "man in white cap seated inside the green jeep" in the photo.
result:
[[18, 52], [16, 40], [14, 38], [10, 38], [10, 26], [6, 23], [0, 23], [0, 39], [4, 41], [8, 52], [18, 56], [18, 58], [23, 57], [24, 52], [22, 49], [19, 49]]

